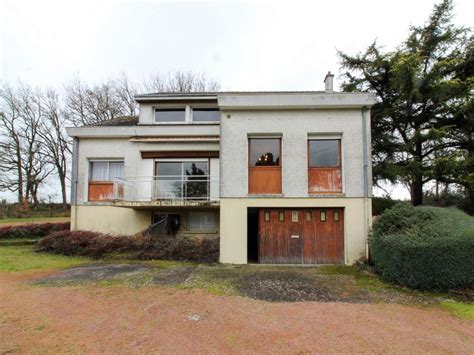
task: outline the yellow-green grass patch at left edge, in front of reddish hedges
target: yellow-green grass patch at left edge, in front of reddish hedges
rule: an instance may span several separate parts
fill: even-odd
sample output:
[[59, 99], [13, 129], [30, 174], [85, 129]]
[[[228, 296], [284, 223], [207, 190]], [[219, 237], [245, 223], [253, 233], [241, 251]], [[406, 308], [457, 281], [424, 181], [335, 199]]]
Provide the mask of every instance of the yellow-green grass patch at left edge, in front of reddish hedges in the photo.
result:
[[0, 245], [0, 271], [66, 269], [89, 261], [89, 258], [36, 253], [31, 245]]

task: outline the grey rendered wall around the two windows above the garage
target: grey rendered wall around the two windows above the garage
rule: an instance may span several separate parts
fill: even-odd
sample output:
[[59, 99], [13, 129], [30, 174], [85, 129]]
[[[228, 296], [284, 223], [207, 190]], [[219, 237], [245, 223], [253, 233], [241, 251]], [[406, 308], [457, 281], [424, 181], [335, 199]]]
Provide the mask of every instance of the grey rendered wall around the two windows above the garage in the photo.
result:
[[[364, 196], [361, 109], [228, 111], [222, 116], [221, 198], [248, 196], [248, 135], [269, 133], [282, 135], [284, 197], [309, 196], [309, 134], [342, 135], [343, 192], [347, 197]], [[367, 126], [370, 130], [370, 122]]]

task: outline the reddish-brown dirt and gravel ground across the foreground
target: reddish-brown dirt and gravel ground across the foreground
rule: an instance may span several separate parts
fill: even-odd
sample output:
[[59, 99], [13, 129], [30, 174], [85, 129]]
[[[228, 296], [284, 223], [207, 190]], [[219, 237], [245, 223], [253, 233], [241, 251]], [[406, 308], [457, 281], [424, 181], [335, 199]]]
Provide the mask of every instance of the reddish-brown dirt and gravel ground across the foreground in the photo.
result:
[[0, 353], [474, 353], [474, 322], [430, 306], [30, 281], [52, 273], [0, 273]]

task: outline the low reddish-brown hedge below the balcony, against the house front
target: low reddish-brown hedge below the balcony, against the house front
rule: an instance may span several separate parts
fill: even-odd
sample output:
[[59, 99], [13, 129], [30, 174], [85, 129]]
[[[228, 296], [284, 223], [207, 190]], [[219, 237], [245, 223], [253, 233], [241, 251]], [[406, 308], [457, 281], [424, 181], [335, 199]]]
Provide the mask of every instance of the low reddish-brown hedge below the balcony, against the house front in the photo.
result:
[[199, 240], [168, 235], [134, 238], [76, 230], [48, 235], [39, 241], [36, 250], [91, 258], [136, 252], [135, 257], [141, 260], [216, 262], [219, 258], [219, 239]]

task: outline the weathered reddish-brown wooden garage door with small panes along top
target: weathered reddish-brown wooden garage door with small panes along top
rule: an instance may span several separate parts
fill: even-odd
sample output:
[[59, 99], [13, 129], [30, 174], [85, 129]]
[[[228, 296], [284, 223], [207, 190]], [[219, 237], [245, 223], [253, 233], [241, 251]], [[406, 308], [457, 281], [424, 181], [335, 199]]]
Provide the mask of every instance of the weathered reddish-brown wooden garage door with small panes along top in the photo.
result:
[[261, 209], [258, 250], [265, 264], [341, 264], [343, 209]]

